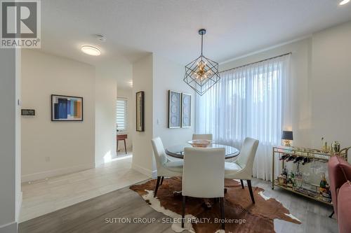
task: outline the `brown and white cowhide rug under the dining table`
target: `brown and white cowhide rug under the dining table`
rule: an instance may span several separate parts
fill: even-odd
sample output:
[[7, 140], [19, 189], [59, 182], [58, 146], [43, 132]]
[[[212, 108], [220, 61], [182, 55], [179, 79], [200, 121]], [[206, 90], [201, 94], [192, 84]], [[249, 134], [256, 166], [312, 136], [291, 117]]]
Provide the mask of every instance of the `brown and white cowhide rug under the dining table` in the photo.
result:
[[[204, 208], [204, 199], [187, 198], [185, 227], [181, 227], [182, 196], [173, 192], [182, 190], [181, 178], [165, 178], [154, 198], [156, 180], [150, 180], [140, 185], [131, 186], [131, 190], [145, 199], [152, 209], [173, 218], [172, 229], [175, 232], [189, 230], [190, 232], [224, 232], [220, 230], [218, 202], [213, 202], [211, 209]], [[300, 224], [300, 220], [289, 213], [276, 199], [265, 197], [263, 189], [253, 187], [256, 204], [252, 204], [249, 189], [243, 190], [238, 181], [225, 180], [225, 232], [274, 232], [274, 218]]]

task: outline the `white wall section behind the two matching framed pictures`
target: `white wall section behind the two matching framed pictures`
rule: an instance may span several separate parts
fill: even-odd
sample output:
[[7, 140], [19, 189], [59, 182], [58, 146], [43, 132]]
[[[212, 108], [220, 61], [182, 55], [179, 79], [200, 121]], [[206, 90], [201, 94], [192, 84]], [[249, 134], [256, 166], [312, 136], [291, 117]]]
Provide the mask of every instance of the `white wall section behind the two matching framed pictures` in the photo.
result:
[[[194, 91], [183, 81], [184, 73], [182, 64], [154, 55], [154, 137], [166, 148], [191, 140], [194, 132]], [[192, 127], [168, 129], [168, 90], [192, 94]]]

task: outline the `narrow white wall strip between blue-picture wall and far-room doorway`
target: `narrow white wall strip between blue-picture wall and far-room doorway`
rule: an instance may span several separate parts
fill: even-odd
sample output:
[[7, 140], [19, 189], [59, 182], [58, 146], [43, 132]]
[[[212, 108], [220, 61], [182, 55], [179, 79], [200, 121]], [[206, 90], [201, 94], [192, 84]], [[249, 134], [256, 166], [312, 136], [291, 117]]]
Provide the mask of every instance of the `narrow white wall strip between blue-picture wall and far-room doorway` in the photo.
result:
[[117, 80], [105, 66], [96, 67], [95, 76], [95, 166], [116, 156]]

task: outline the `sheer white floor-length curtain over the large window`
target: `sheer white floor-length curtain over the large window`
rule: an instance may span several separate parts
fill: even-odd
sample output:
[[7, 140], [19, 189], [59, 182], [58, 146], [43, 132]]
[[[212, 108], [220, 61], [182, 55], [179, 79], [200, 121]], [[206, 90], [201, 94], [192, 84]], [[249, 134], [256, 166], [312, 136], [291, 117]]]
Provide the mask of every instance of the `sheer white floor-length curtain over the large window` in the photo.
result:
[[283, 126], [291, 125], [289, 64], [290, 55], [285, 55], [226, 71], [196, 97], [196, 132], [211, 133], [214, 141], [237, 148], [247, 136], [260, 140], [253, 174], [268, 181], [272, 146], [281, 144]]

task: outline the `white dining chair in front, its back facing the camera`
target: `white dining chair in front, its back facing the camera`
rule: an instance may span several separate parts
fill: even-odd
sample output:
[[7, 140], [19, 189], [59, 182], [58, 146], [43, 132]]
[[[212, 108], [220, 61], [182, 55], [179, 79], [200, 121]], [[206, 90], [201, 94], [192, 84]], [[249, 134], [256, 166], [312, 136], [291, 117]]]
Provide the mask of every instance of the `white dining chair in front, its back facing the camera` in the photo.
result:
[[[186, 197], [220, 198], [220, 216], [224, 220], [225, 148], [185, 148], [182, 178], [183, 213]], [[222, 223], [224, 229], [225, 224]]]

